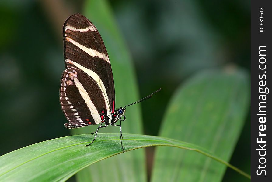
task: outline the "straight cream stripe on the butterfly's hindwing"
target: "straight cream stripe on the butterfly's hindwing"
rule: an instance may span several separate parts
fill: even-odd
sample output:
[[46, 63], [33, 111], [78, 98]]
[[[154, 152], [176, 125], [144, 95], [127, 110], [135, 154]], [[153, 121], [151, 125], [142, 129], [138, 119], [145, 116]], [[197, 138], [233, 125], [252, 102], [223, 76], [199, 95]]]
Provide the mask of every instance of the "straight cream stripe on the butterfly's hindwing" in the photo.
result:
[[76, 77], [74, 78], [74, 81], [75, 81], [75, 86], [78, 88], [80, 95], [82, 96], [85, 103], [89, 107], [93, 120], [95, 121], [96, 124], [101, 123], [100, 114], [98, 113], [96, 107], [92, 103], [91, 98], [89, 97], [87, 91], [85, 90], [85, 88], [82, 86], [82, 84], [79, 82], [79, 80]]

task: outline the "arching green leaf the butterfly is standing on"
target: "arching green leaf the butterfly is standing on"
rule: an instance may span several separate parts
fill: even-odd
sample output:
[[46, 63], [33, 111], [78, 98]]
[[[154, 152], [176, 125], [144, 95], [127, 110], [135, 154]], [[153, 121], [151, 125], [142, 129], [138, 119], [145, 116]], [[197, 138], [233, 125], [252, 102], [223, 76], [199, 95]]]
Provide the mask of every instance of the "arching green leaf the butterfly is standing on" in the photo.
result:
[[[174, 146], [195, 150], [224, 163], [201, 147], [190, 143], [158, 136], [123, 136], [126, 151], [148, 146]], [[93, 138], [91, 134], [66, 136], [7, 153], [0, 157], [0, 181], [65, 181], [79, 170], [123, 152], [118, 133], [99, 134], [92, 145], [85, 147]], [[125, 152], [119, 156], [124, 158], [127, 153], [132, 152]], [[92, 173], [94, 165], [90, 169]], [[114, 173], [124, 169], [105, 167], [103, 170], [105, 173]]]

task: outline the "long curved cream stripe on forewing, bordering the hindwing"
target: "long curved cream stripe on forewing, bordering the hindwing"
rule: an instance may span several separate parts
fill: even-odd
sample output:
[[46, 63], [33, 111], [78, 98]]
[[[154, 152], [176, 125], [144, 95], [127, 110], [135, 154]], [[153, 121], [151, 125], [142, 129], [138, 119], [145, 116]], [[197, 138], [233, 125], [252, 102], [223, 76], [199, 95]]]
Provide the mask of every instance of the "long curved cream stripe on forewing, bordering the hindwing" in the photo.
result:
[[79, 69], [81, 69], [82, 71], [84, 71], [87, 75], [89, 75], [92, 79], [94, 79], [96, 81], [96, 83], [98, 84], [99, 88], [103, 92], [103, 96], [104, 96], [105, 103], [106, 103], [106, 106], [107, 106], [107, 108], [106, 108], [107, 114], [108, 114], [109, 120], [111, 122], [111, 112], [110, 112], [111, 106], [110, 106], [110, 101], [109, 101], [109, 98], [108, 98], [108, 94], [107, 94], [106, 88], [105, 88], [102, 80], [100, 79], [100, 77], [95, 72], [93, 72], [92, 70], [90, 70], [88, 68], [85, 68], [84, 66], [81, 66], [80, 64], [78, 64], [76, 62], [73, 62], [70, 59], [66, 59], [66, 62], [69, 63], [69, 64], [71, 64], [71, 65], [75, 65], [76, 67], [78, 67]]

